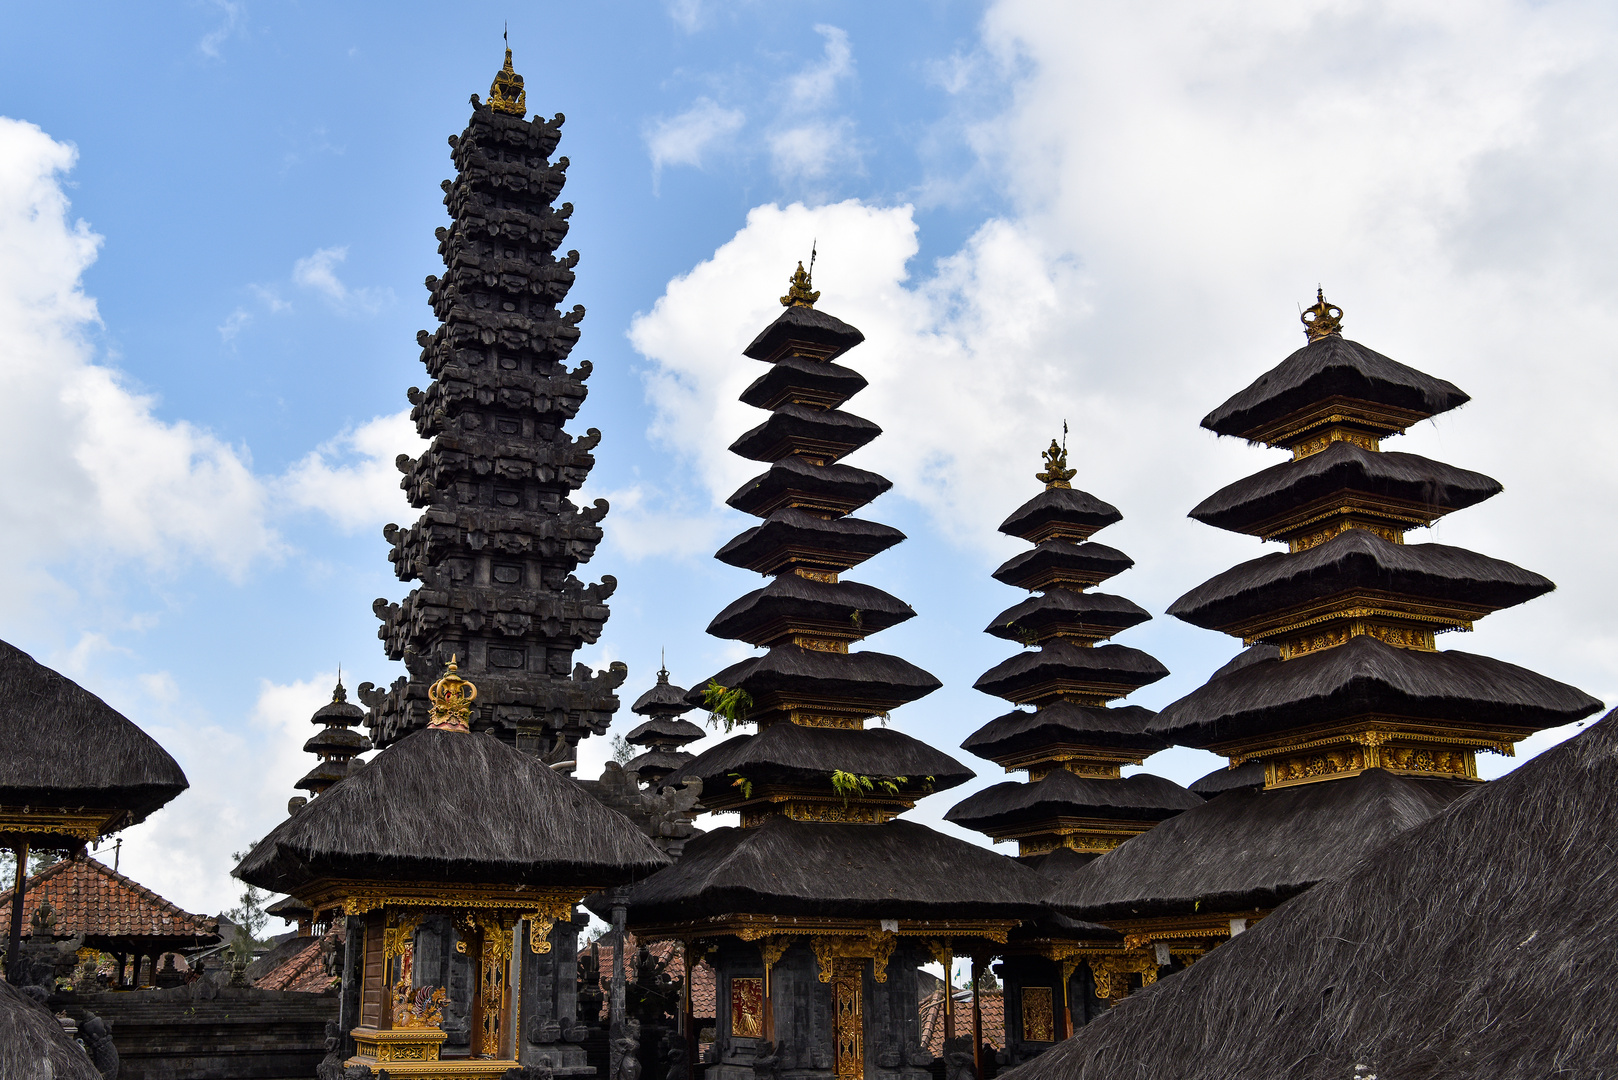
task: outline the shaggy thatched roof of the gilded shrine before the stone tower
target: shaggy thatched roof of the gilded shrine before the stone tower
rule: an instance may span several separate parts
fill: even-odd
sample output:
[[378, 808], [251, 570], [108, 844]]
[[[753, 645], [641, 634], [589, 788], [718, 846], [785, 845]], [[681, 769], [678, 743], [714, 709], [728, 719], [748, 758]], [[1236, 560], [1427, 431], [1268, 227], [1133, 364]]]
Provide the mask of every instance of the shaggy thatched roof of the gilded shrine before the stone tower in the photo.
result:
[[628, 818], [537, 758], [426, 729], [298, 810], [235, 873], [272, 892], [317, 878], [605, 887], [667, 863]]

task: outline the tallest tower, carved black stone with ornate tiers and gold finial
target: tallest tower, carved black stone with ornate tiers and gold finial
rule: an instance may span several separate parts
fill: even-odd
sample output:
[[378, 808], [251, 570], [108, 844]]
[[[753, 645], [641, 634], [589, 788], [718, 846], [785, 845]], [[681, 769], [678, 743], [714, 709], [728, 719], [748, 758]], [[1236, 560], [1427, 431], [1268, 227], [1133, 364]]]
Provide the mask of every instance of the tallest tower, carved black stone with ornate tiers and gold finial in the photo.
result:
[[[515, 73], [503, 73], [519, 79]], [[605, 500], [570, 495], [595, 463], [600, 432], [563, 427], [584, 402], [589, 361], [568, 368], [584, 309], [558, 304], [578, 253], [557, 257], [573, 204], [555, 206], [568, 159], [552, 160], [555, 120], [472, 99], [466, 131], [450, 138], [456, 176], [443, 185], [443, 277], [427, 291], [440, 325], [422, 330], [432, 382], [411, 389], [411, 418], [432, 444], [401, 457], [401, 487], [422, 517], [383, 529], [401, 581], [375, 602], [379, 636], [408, 677], [387, 691], [361, 688], [374, 740], [387, 746], [427, 724], [427, 683], [455, 656], [479, 687], [472, 724], [549, 761], [602, 733], [626, 669], [594, 674], [573, 653], [594, 643], [615, 581], [573, 572], [600, 542]]]

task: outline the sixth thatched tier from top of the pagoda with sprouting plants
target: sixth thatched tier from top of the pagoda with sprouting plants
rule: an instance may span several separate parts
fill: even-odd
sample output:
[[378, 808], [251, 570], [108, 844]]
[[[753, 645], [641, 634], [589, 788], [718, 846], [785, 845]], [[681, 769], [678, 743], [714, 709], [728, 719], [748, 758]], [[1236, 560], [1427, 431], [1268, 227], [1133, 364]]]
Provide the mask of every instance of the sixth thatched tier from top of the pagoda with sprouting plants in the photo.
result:
[[866, 635], [914, 617], [914, 607], [870, 585], [812, 581], [796, 573], [783, 573], [715, 615], [709, 623], [709, 633], [715, 638], [764, 644], [790, 630], [811, 633], [825, 628]]

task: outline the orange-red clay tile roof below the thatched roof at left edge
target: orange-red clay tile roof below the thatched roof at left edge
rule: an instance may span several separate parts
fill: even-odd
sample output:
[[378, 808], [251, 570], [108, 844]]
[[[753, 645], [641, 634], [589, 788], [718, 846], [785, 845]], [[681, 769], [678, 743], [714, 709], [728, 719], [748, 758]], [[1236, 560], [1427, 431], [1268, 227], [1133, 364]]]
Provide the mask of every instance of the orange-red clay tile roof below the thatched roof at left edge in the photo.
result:
[[[207, 946], [218, 941], [218, 920], [183, 912], [146, 886], [94, 858], [65, 858], [28, 879], [23, 936], [29, 936], [40, 900], [57, 913], [57, 936], [152, 938]], [[0, 933], [11, 933], [11, 891], [0, 892]], [[154, 942], [155, 944], [155, 942]]]

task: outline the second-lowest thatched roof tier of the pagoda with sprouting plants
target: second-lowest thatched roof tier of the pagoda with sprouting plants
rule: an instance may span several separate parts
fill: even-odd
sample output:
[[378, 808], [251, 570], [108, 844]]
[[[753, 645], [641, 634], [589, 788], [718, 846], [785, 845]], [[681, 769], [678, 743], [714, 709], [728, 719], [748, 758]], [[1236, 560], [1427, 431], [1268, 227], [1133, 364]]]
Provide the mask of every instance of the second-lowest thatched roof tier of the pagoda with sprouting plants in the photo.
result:
[[[853, 730], [846, 727], [803, 727], [770, 724], [757, 735], [736, 735], [710, 746], [686, 766], [686, 776], [702, 779], [704, 790], [731, 785], [739, 774], [757, 785], [804, 785], [830, 790], [832, 772], [856, 776], [903, 776], [908, 795], [942, 792], [972, 779], [964, 764], [888, 727]], [[932, 777], [929, 782], [927, 777]]]

